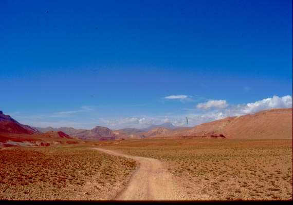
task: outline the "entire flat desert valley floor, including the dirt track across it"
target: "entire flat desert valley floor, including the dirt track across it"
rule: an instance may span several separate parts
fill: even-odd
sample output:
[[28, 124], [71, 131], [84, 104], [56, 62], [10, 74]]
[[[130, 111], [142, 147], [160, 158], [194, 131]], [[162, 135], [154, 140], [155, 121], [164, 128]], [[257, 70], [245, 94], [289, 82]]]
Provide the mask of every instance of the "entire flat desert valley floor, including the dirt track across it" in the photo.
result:
[[[5, 148], [0, 166], [0, 199], [292, 199], [291, 139], [142, 139]], [[133, 190], [140, 190], [139, 198]]]

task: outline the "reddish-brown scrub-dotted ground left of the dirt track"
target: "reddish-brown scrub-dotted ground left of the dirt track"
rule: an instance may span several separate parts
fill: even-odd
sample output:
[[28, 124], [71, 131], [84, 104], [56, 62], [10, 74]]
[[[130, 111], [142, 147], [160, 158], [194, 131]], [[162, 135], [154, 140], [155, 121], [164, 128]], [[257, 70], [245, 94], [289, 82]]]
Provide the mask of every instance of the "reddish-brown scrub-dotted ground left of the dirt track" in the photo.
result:
[[0, 150], [0, 199], [109, 200], [125, 187], [136, 162], [89, 147]]

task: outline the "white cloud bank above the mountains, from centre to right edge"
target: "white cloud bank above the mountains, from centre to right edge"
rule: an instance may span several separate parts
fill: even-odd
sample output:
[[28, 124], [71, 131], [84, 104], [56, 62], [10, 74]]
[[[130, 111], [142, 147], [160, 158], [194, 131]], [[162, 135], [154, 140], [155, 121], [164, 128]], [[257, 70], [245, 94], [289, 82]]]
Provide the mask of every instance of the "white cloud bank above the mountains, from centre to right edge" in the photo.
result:
[[100, 122], [104, 126], [114, 129], [144, 128], [164, 122], [171, 122], [175, 126], [186, 126], [186, 117], [188, 117], [189, 126], [195, 126], [228, 116], [240, 116], [267, 109], [292, 107], [292, 97], [289, 95], [283, 97], [273, 96], [272, 98], [239, 105], [230, 105], [227, 103], [227, 100], [209, 100], [208, 102], [200, 106], [200, 108], [209, 109], [185, 109], [188, 113], [181, 115], [135, 116], [111, 120], [100, 119]]

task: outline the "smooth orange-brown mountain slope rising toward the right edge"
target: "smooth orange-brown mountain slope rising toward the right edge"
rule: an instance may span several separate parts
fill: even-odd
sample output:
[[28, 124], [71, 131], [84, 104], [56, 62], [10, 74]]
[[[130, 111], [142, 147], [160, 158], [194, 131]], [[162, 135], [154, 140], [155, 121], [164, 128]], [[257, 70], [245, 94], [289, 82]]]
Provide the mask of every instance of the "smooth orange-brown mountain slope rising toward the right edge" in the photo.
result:
[[[292, 109], [272, 109], [255, 114], [207, 122], [190, 129], [169, 131], [153, 137], [182, 138], [208, 137], [208, 138], [235, 139], [288, 139], [292, 138]], [[218, 136], [218, 137], [213, 137]]]

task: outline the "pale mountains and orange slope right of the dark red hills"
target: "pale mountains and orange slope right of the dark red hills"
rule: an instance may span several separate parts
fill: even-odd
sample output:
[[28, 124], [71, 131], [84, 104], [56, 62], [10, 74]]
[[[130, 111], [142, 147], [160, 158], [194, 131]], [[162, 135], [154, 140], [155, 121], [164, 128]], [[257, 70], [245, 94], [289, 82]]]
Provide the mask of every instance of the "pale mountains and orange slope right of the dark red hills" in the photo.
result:
[[[272, 109], [239, 117], [227, 117], [195, 127], [176, 127], [171, 123], [152, 125], [143, 129], [125, 128], [110, 130], [99, 127], [92, 130], [74, 128], [36, 128], [39, 131], [62, 131], [81, 139], [141, 139], [141, 138], [292, 138], [292, 109]], [[224, 138], [222, 137], [222, 138]], [[221, 137], [220, 137], [221, 138]]]

